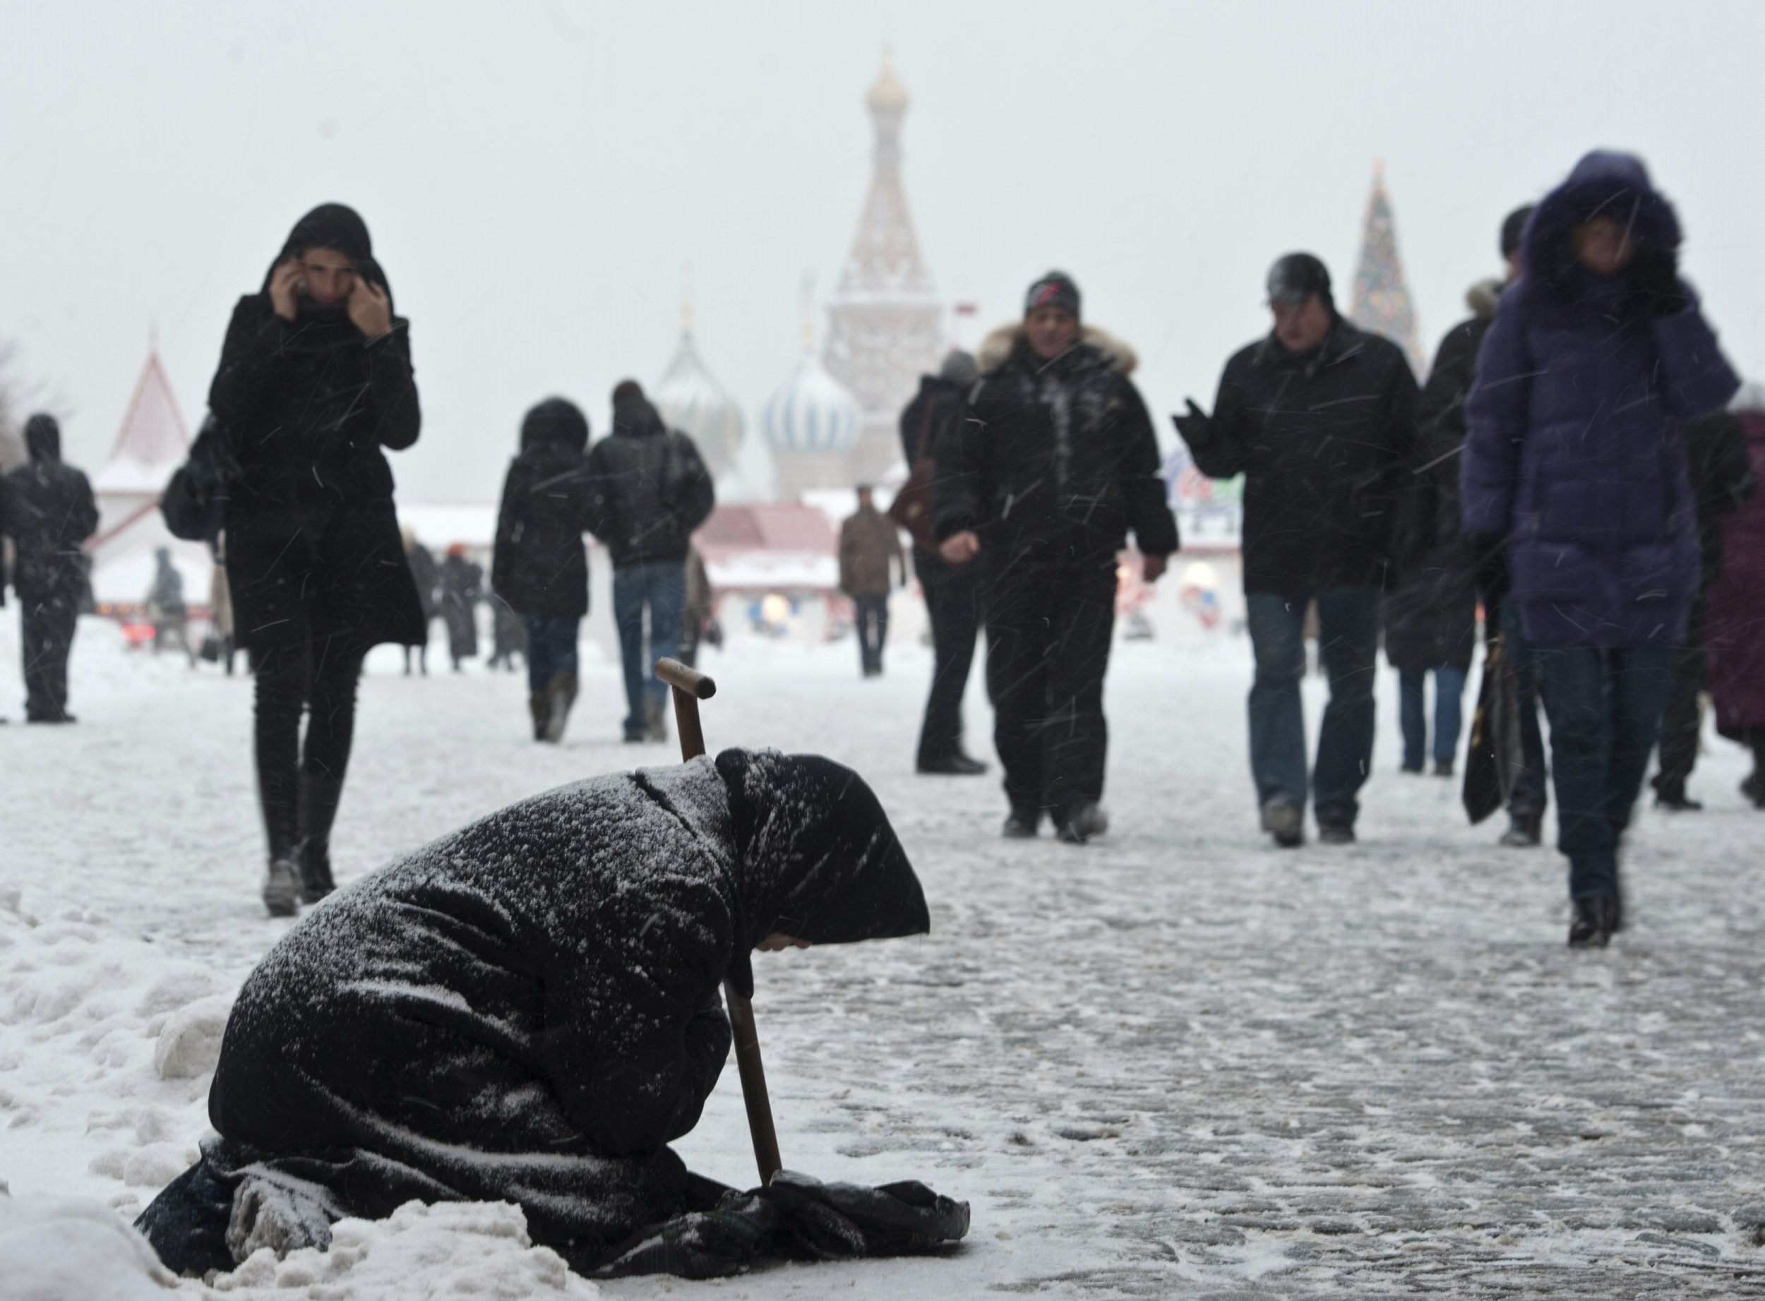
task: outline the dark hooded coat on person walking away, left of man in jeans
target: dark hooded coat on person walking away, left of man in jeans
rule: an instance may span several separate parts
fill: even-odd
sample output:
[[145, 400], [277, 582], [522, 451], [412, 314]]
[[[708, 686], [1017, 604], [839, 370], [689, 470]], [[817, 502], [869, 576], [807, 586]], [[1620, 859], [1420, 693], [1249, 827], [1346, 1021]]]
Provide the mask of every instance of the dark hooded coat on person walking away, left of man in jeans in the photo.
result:
[[491, 590], [517, 614], [588, 614], [588, 549], [598, 519], [588, 482], [588, 418], [549, 397], [521, 422], [521, 455], [503, 480]]

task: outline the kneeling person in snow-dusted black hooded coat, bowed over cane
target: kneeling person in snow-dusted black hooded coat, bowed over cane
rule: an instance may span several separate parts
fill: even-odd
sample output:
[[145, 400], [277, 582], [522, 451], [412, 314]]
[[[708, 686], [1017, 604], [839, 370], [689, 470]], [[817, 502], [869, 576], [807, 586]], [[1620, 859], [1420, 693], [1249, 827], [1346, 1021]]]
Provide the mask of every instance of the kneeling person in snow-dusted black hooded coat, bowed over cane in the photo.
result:
[[138, 1227], [173, 1269], [231, 1269], [411, 1199], [507, 1200], [595, 1267], [692, 1209], [667, 1144], [722, 1072], [718, 990], [752, 996], [750, 953], [928, 929], [875, 794], [819, 756], [724, 750], [535, 796], [270, 950], [222, 1036], [219, 1139]]

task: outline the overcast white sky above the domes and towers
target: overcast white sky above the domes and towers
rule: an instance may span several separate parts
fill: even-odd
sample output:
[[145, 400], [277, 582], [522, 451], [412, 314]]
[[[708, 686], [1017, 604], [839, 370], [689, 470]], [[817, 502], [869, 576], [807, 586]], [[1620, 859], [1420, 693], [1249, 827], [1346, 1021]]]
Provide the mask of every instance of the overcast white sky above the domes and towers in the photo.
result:
[[851, 240], [884, 42], [939, 291], [990, 325], [1070, 270], [1161, 424], [1264, 330], [1276, 254], [1318, 252], [1347, 300], [1378, 157], [1430, 350], [1497, 270], [1500, 217], [1619, 147], [1765, 374], [1758, 0], [0, 0], [0, 339], [95, 468], [150, 321], [194, 425], [233, 300], [339, 199], [411, 318], [402, 496], [496, 496], [551, 392], [598, 436], [618, 378], [660, 378], [687, 263], [752, 422], [803, 272], [826, 293]]

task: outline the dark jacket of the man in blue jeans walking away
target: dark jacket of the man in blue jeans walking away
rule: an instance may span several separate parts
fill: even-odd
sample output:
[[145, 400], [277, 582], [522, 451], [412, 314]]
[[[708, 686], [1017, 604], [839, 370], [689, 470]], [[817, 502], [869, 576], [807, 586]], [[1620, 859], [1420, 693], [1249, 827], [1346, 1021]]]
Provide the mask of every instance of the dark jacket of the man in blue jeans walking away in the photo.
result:
[[588, 454], [595, 537], [614, 568], [683, 563], [717, 489], [699, 448], [669, 429], [644, 397], [612, 406], [612, 434]]

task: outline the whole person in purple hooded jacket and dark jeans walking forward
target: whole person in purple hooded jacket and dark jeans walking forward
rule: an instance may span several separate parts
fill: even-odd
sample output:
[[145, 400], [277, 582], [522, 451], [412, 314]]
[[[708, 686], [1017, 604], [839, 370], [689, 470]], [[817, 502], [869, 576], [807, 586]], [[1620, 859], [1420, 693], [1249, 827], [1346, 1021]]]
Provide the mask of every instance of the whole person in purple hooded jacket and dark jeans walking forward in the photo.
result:
[[1527, 222], [1465, 402], [1465, 531], [1539, 666], [1576, 948], [1624, 925], [1619, 839], [1698, 591], [1682, 422], [1740, 383], [1679, 245], [1640, 159], [1583, 157]]

